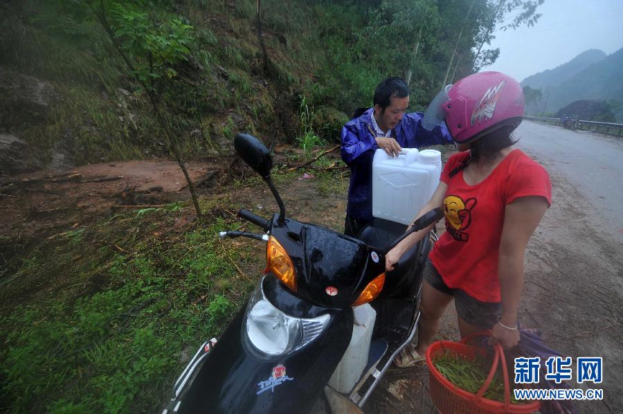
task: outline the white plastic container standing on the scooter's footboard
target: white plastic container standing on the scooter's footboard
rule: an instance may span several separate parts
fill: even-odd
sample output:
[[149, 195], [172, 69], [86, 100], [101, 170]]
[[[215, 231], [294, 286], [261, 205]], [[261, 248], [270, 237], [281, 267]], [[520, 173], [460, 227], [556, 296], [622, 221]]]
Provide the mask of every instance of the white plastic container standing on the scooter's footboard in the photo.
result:
[[363, 374], [363, 368], [368, 363], [370, 340], [374, 321], [377, 318], [377, 312], [368, 303], [354, 307], [352, 311], [355, 321], [352, 327], [352, 338], [328, 383], [340, 393], [349, 393]]

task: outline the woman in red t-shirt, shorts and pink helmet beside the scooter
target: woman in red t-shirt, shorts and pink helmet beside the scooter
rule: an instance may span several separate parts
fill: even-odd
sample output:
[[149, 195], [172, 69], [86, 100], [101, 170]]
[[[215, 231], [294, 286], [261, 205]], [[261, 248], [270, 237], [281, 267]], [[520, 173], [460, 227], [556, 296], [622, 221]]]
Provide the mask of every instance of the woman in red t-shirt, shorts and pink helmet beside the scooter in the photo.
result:
[[[525, 246], [552, 201], [547, 172], [512, 146], [510, 134], [523, 119], [516, 80], [498, 72], [470, 75], [444, 88], [426, 114], [424, 123], [445, 120], [461, 152], [450, 157], [416, 216], [443, 207], [446, 232], [424, 269], [417, 346], [403, 350], [398, 366], [423, 359], [452, 299], [462, 337], [491, 329], [491, 341], [504, 348], [518, 343]], [[431, 228], [390, 250], [387, 270]]]

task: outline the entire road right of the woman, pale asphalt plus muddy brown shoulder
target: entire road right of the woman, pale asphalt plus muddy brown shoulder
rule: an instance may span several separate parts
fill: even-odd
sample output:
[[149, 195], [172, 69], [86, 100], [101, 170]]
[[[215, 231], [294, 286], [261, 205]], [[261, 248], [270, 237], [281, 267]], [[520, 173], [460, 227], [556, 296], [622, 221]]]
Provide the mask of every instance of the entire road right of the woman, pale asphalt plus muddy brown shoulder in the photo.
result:
[[543, 332], [545, 343], [563, 355], [603, 357], [604, 399], [577, 407], [583, 414], [618, 413], [623, 407], [623, 138], [530, 121], [516, 137], [518, 147], [550, 172], [554, 186], [554, 203], [526, 251], [522, 323]]

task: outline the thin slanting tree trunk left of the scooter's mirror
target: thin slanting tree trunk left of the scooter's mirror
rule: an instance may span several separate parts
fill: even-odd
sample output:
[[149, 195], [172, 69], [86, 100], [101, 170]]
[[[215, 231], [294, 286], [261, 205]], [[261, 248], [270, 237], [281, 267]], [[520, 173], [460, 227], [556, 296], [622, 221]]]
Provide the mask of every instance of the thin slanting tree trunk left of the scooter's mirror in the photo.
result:
[[[260, 3], [260, 0], [258, 0], [258, 5], [259, 3]], [[108, 20], [106, 19], [106, 12], [105, 12], [104, 4], [102, 3], [102, 1], [100, 1], [99, 11], [93, 8], [93, 6], [91, 6], [91, 10], [93, 10], [93, 13], [96, 15], [96, 18], [102, 25], [102, 28], [104, 28], [105, 32], [110, 38], [110, 41], [115, 46], [118, 53], [121, 55], [123, 62], [125, 62], [128, 69], [133, 74], [135, 74], [136, 70], [134, 69], [134, 64], [132, 64], [132, 61], [129, 60], [129, 57], [123, 51], [123, 48], [119, 44], [118, 39], [115, 37], [108, 23]], [[150, 97], [150, 101], [152, 102], [152, 107], [154, 107], [154, 112], [156, 113], [156, 118], [158, 118], [159, 124], [165, 132], [165, 138], [167, 138], [169, 150], [170, 152], [174, 154], [175, 159], [177, 160], [177, 164], [179, 165], [179, 168], [182, 170], [184, 177], [186, 178], [186, 182], [188, 182], [188, 189], [190, 190], [190, 197], [192, 197], [192, 204], [195, 204], [195, 210], [197, 210], [197, 217], [201, 217], [201, 208], [199, 207], [199, 201], [197, 201], [197, 192], [195, 192], [195, 186], [193, 185], [192, 180], [190, 179], [190, 175], [188, 175], [188, 170], [186, 170], [186, 164], [184, 164], [183, 160], [181, 159], [181, 154], [179, 153], [179, 147], [177, 146], [177, 138], [175, 138], [174, 134], [172, 134], [172, 132], [170, 131], [170, 127], [168, 123], [165, 122], [165, 119], [163, 118], [160, 112], [160, 109], [158, 107], [158, 100], [156, 99], [154, 92], [149, 87], [147, 87], [147, 84], [145, 84], [145, 82], [139, 79], [138, 76], [134, 75], [134, 79], [138, 83], [141, 84], [143, 89], [145, 89], [145, 91], [147, 92], [147, 96]]]

